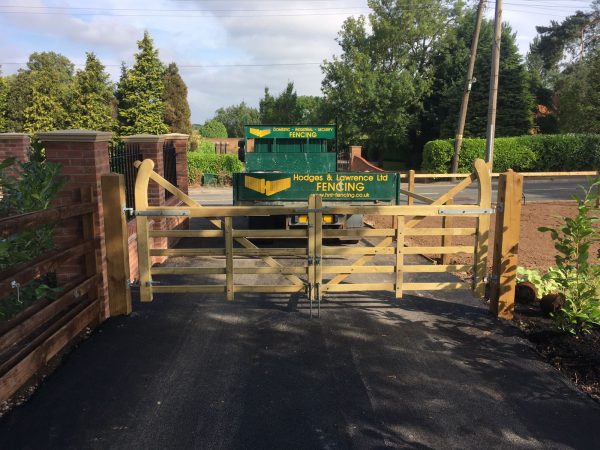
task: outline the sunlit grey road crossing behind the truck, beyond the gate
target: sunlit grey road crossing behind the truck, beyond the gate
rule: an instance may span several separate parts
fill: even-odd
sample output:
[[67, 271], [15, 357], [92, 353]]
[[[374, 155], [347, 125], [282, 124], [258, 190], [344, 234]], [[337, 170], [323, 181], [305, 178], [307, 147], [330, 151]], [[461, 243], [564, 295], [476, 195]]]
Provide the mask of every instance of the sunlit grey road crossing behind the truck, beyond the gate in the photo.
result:
[[[435, 183], [416, 183], [415, 191], [418, 194], [430, 198], [437, 198], [447, 192], [456, 183], [449, 181], [438, 181]], [[497, 178], [492, 180], [492, 201], [496, 201]], [[588, 186], [586, 177], [556, 177], [556, 178], [525, 178], [524, 194], [525, 202], [550, 202], [572, 200], [573, 195], [581, 195], [579, 186]], [[402, 188], [406, 189], [406, 183], [402, 183]], [[190, 195], [201, 204], [206, 205], [231, 205], [231, 188], [213, 188], [199, 187], [190, 189]], [[474, 203], [477, 198], [477, 185], [473, 184], [466, 188], [456, 198], [458, 202]], [[406, 197], [402, 196], [402, 201], [406, 202]], [[415, 204], [419, 204], [415, 201]]]

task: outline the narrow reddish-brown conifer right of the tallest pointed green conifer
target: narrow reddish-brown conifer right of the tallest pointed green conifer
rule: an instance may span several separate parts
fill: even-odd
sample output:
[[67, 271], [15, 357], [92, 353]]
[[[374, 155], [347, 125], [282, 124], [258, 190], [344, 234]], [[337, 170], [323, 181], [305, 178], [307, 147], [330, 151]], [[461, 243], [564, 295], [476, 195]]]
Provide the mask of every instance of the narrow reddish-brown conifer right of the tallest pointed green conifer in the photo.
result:
[[179, 75], [177, 64], [171, 63], [165, 71], [164, 121], [171, 133], [192, 133], [190, 105], [187, 100], [187, 86]]

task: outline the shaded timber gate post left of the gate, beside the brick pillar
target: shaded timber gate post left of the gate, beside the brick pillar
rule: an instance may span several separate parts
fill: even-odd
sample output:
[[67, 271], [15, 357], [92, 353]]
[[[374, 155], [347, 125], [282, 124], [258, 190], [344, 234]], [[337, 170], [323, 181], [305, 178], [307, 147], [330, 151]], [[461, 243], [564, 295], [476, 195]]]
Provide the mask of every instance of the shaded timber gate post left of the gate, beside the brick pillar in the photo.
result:
[[125, 177], [102, 176], [102, 202], [108, 272], [108, 306], [111, 316], [131, 314], [129, 244], [125, 216]]

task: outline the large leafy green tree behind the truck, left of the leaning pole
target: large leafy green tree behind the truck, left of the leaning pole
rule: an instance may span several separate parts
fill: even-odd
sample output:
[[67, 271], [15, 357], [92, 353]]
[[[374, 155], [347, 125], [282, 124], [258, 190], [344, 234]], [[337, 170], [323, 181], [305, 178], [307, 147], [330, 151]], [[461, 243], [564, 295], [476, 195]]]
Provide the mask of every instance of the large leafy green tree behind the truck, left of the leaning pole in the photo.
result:
[[363, 144], [371, 158], [410, 158], [432, 86], [432, 57], [462, 8], [453, 3], [370, 0], [368, 24], [363, 16], [344, 22], [342, 54], [322, 66], [322, 89], [343, 143]]

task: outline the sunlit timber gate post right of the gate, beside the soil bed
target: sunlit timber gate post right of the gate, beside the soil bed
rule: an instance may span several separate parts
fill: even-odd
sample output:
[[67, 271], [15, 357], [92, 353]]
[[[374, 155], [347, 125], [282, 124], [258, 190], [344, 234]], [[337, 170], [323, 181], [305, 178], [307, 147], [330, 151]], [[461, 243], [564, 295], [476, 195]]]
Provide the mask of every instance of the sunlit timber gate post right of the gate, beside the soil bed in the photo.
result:
[[511, 320], [514, 313], [522, 195], [522, 175], [512, 170], [500, 174], [490, 310], [507, 320]]

